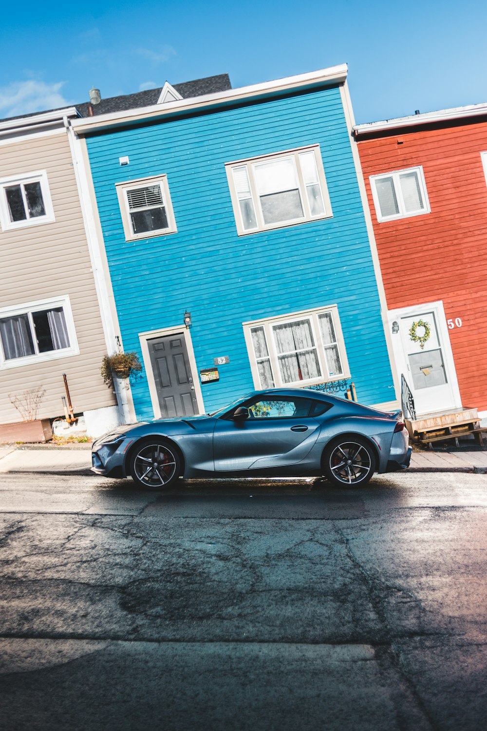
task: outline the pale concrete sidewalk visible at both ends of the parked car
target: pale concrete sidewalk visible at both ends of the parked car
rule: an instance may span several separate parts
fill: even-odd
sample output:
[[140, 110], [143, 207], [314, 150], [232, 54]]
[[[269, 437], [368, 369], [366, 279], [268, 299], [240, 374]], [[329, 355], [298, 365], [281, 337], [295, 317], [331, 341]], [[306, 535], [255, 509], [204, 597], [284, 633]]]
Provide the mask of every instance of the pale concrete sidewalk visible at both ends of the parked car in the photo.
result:
[[[0, 474], [7, 472], [72, 473], [91, 467], [88, 444], [75, 447], [0, 447]], [[487, 474], [487, 452], [413, 452], [410, 472]]]

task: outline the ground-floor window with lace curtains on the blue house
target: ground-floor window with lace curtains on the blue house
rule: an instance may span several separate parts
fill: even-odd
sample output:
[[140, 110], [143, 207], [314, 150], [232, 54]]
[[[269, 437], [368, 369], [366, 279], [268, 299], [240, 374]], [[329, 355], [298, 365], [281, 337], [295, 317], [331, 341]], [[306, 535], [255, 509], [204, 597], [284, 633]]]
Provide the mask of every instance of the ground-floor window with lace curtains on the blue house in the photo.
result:
[[337, 306], [244, 324], [256, 388], [348, 377]]

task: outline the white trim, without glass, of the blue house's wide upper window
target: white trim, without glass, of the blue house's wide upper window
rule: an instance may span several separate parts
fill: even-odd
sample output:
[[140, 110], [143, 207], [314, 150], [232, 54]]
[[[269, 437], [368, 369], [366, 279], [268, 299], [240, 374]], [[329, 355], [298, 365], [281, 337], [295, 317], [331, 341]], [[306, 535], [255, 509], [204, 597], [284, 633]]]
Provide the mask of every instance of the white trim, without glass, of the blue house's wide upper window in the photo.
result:
[[[314, 152], [316, 169], [318, 170], [318, 181], [321, 187], [321, 195], [323, 197], [324, 213], [320, 213], [318, 216], [312, 216], [310, 212], [310, 205], [307, 200], [306, 186], [302, 176], [301, 166], [296, 164], [298, 156], [303, 152]], [[296, 164], [296, 173], [299, 181], [299, 195], [301, 197], [302, 207], [304, 211], [304, 218], [302, 219], [291, 219], [289, 221], [279, 221], [275, 224], [265, 224], [261, 210], [261, 200], [258, 196], [256, 189], [256, 182], [253, 176], [252, 165], [258, 162], [269, 162], [272, 159], [279, 159], [280, 157], [294, 156], [294, 162]], [[251, 198], [253, 201], [253, 207], [256, 214], [257, 225], [253, 229], [245, 229], [243, 227], [242, 213], [240, 211], [239, 198], [237, 196], [237, 190], [235, 189], [233, 169], [234, 167], [247, 167], [248, 179], [250, 183]], [[273, 229], [287, 228], [289, 226], [297, 226], [299, 224], [307, 224], [311, 221], [321, 221], [322, 219], [330, 219], [333, 216], [331, 211], [331, 202], [328, 192], [328, 186], [326, 185], [325, 171], [323, 169], [323, 158], [321, 157], [320, 145], [306, 145], [305, 147], [296, 147], [292, 150], [283, 150], [279, 152], [273, 152], [268, 155], [258, 155], [256, 157], [248, 157], [244, 160], [234, 160], [233, 162], [225, 163], [226, 177], [229, 183], [231, 205], [234, 209], [235, 224], [237, 225], [237, 233], [239, 236], [247, 236], [253, 233], [261, 231], [269, 231]]]

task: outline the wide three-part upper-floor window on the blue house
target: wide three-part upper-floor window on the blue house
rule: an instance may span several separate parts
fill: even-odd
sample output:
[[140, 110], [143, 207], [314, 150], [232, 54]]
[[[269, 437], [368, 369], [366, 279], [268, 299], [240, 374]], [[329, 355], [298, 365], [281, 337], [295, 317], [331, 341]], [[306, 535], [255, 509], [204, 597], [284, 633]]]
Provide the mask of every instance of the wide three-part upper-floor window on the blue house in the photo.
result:
[[226, 164], [239, 235], [330, 217], [319, 145]]

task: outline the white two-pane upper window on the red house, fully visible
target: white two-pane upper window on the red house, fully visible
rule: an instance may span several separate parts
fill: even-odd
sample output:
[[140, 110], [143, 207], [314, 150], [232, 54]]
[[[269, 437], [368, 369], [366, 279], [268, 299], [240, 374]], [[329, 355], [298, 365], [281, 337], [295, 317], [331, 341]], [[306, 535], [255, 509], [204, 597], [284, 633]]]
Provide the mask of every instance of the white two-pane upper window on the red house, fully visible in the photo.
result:
[[422, 167], [372, 175], [370, 184], [377, 221], [403, 219], [431, 211]]

